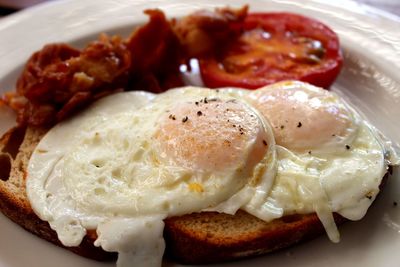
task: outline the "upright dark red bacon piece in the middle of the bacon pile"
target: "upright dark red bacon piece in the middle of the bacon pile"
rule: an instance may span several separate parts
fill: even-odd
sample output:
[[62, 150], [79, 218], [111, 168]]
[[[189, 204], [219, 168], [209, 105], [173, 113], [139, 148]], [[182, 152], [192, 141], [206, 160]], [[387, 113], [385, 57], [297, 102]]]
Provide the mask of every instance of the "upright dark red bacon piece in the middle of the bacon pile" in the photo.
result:
[[127, 41], [131, 51], [130, 89], [153, 93], [182, 86], [179, 65], [181, 46], [171, 24], [160, 10], [146, 10], [150, 21], [133, 32]]

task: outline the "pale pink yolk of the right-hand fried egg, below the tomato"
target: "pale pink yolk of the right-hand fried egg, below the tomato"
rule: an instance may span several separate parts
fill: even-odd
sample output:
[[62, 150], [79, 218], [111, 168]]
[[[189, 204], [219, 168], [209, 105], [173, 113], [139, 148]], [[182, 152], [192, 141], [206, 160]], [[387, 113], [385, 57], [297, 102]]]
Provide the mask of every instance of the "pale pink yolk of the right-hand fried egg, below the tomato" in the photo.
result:
[[276, 143], [305, 151], [335, 144], [354, 128], [336, 96], [303, 83], [283, 82], [254, 91], [251, 103], [270, 121]]

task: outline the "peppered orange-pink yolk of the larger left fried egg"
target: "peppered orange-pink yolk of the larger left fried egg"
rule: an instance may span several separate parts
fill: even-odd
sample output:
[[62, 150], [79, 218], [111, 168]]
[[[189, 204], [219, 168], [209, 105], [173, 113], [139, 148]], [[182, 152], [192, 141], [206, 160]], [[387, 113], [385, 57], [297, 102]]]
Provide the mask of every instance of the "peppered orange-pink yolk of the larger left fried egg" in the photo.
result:
[[161, 157], [204, 171], [252, 168], [268, 150], [260, 117], [236, 100], [177, 104], [161, 117], [155, 139]]

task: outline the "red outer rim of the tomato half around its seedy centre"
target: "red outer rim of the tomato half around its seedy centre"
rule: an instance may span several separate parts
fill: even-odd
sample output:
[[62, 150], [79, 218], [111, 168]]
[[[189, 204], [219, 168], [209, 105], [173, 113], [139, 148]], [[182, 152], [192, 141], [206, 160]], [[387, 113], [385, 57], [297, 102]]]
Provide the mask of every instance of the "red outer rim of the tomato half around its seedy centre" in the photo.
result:
[[245, 19], [243, 27], [245, 33], [261, 28], [270, 33], [271, 38], [275, 38], [278, 44], [281, 40], [285, 40], [285, 37], [282, 36], [288, 32], [294, 32], [301, 37], [312, 38], [322, 44], [324, 55], [317, 64], [310, 65], [311, 67], [306, 64], [297, 64], [286, 73], [280, 74], [279, 77], [272, 75], [275, 71], [274, 66], [260, 66], [254, 74], [238, 75], [226, 71], [221, 63], [225, 55], [235, 53], [232, 47], [237, 44], [228, 45], [222, 59], [221, 55], [199, 58], [200, 72], [206, 86], [210, 88], [233, 86], [256, 89], [281, 80], [300, 80], [319, 87], [329, 88], [340, 73], [343, 58], [338, 37], [329, 27], [319, 21], [285, 12], [251, 13]]

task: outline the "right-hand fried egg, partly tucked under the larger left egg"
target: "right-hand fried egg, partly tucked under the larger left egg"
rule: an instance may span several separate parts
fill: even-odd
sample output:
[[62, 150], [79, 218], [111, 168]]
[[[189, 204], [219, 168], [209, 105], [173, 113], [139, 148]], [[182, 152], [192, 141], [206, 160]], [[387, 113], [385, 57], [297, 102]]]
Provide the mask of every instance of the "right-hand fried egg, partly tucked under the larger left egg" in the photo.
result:
[[338, 242], [332, 212], [361, 219], [387, 172], [385, 155], [395, 152], [333, 92], [288, 81], [246, 97], [271, 122], [278, 158], [271, 192], [250, 212], [265, 220], [316, 212]]

